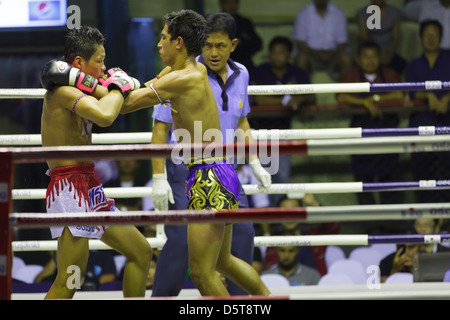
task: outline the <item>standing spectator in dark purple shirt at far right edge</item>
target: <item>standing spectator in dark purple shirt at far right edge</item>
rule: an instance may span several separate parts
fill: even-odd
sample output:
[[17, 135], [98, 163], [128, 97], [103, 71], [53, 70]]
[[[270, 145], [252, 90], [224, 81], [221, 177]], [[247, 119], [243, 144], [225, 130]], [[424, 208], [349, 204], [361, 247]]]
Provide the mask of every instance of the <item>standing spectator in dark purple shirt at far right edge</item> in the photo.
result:
[[[408, 63], [405, 81], [450, 80], [450, 53], [440, 48], [442, 25], [437, 20], [427, 20], [420, 24], [419, 35], [423, 54]], [[409, 126], [448, 126], [450, 124], [450, 93], [442, 90], [410, 91], [411, 99], [423, 101], [428, 109], [411, 114]], [[412, 171], [417, 180], [444, 179], [450, 172], [449, 152], [426, 152], [411, 155]], [[418, 191], [420, 202], [449, 201], [448, 192]]]

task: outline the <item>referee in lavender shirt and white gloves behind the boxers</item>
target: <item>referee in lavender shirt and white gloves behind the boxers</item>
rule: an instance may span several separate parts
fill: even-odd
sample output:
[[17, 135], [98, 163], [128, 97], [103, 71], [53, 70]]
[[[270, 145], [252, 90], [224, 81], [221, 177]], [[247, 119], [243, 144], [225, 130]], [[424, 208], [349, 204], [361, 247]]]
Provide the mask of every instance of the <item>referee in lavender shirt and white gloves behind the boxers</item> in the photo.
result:
[[[219, 112], [220, 130], [224, 143], [235, 141], [230, 132], [247, 131], [250, 127], [247, 115], [250, 104], [247, 94], [249, 74], [245, 66], [230, 59], [230, 54], [237, 45], [236, 23], [226, 13], [211, 13], [207, 16], [208, 40], [202, 48], [202, 54], [196, 60], [207, 67], [208, 79]], [[220, 45], [219, 45], [220, 44]], [[221, 50], [216, 50], [219, 48]], [[219, 54], [220, 52], [220, 54]], [[173, 143], [172, 110], [163, 105], [155, 107], [152, 114], [152, 144]], [[236, 140], [241, 142], [240, 140]], [[237, 172], [237, 163], [232, 163]], [[172, 159], [152, 158], [153, 192], [152, 203], [156, 210], [185, 210], [189, 199], [186, 196], [186, 177], [189, 169], [185, 164], [175, 164]], [[236, 161], [234, 161], [236, 162]], [[271, 177], [257, 164], [252, 167], [256, 180], [264, 187], [270, 187]], [[258, 174], [259, 173], [259, 174]], [[258, 195], [261, 196], [261, 195]], [[240, 187], [239, 208], [249, 208], [242, 185]], [[267, 206], [265, 202], [254, 204]], [[185, 283], [188, 271], [187, 227], [182, 225], [165, 225], [167, 241], [162, 248], [156, 264], [152, 297], [176, 296]], [[255, 230], [253, 223], [233, 224], [231, 253], [233, 256], [252, 264]], [[226, 288], [230, 295], [245, 295], [230, 279], [226, 279]]]

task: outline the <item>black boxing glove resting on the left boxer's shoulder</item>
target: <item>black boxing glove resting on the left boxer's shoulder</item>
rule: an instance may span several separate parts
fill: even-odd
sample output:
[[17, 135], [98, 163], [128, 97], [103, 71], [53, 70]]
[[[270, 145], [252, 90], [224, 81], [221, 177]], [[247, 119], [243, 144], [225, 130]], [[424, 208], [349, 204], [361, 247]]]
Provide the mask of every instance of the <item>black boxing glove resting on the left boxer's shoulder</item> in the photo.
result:
[[95, 91], [98, 80], [67, 62], [50, 60], [41, 71], [41, 84], [47, 90], [56, 86], [72, 86], [91, 94]]

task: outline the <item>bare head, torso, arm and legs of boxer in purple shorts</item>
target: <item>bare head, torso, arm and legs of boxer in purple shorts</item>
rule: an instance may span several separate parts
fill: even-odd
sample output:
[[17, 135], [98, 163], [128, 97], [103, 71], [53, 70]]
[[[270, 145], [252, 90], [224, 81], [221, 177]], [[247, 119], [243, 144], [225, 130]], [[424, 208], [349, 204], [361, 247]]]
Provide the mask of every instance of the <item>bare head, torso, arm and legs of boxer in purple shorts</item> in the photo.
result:
[[[209, 130], [220, 130], [221, 124], [207, 69], [196, 61], [196, 56], [201, 53], [206, 42], [206, 27], [205, 18], [192, 10], [172, 12], [164, 17], [158, 49], [167, 67], [155, 79], [146, 82], [147, 90], [130, 93], [122, 113], [161, 103], [172, 110], [178, 143], [181, 140], [188, 144], [222, 143], [222, 137], [216, 135], [212, 139], [208, 136]], [[187, 133], [186, 139], [180, 136], [182, 133]], [[195, 172], [201, 173], [202, 170]], [[214, 170], [209, 172], [213, 173]], [[219, 175], [221, 179], [224, 178], [223, 174]], [[233, 175], [236, 176], [234, 172]], [[154, 183], [157, 182], [155, 176], [153, 178]], [[235, 181], [237, 186], [238, 179]], [[198, 184], [194, 183], [193, 187], [196, 186]], [[248, 294], [269, 295], [269, 289], [252, 266], [231, 254], [232, 227], [232, 224], [223, 223], [188, 225], [189, 275], [192, 282], [203, 296], [228, 296], [229, 292], [219, 272]]]

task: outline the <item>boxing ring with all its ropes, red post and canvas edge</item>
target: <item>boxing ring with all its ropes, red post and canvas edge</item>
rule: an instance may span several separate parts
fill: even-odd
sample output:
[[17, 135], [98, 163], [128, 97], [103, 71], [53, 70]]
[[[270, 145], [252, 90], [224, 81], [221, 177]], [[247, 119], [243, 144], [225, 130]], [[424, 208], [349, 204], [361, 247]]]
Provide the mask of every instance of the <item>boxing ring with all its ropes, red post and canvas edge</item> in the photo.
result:
[[[450, 82], [427, 81], [424, 83], [396, 84], [316, 84], [286, 86], [250, 86], [249, 94], [309, 94], [325, 92], [384, 92], [389, 90], [449, 90]], [[40, 99], [43, 89], [0, 89], [2, 99]], [[384, 154], [450, 151], [450, 128], [384, 128], [384, 129], [310, 129], [310, 130], [259, 130], [252, 132], [256, 142], [252, 144], [216, 145], [224, 153], [244, 150], [258, 153], [261, 148], [275, 146], [279, 154], [320, 156], [352, 154]], [[301, 208], [239, 209], [213, 211], [127, 211], [111, 214], [94, 212], [86, 214], [64, 213], [15, 213], [12, 201], [44, 199], [45, 189], [18, 190], [13, 188], [14, 164], [36, 163], [55, 159], [149, 159], [154, 156], [169, 157], [173, 145], [150, 145], [151, 133], [93, 134], [91, 146], [35, 147], [40, 135], [0, 136], [0, 299], [11, 299], [11, 269], [13, 251], [48, 251], [56, 249], [55, 241], [12, 241], [12, 228], [45, 228], [50, 225], [112, 225], [112, 224], [186, 224], [222, 222], [280, 222], [301, 221], [318, 223], [328, 221], [413, 220], [416, 218], [443, 218], [450, 216], [450, 203], [410, 203], [399, 205], [324, 206]], [[14, 147], [11, 147], [14, 146]], [[201, 152], [206, 145], [191, 146], [191, 152]], [[260, 193], [256, 185], [244, 185], [245, 192]], [[348, 193], [403, 190], [449, 189], [448, 180], [399, 181], [389, 183], [308, 183], [273, 184], [268, 194], [284, 193]], [[143, 197], [151, 194], [151, 188], [105, 188], [111, 198]], [[153, 248], [162, 248], [165, 236], [160, 232], [148, 241]], [[373, 243], [444, 243], [450, 242], [450, 234], [413, 235], [317, 235], [286, 237], [255, 237], [256, 246], [281, 245], [370, 245]], [[107, 249], [101, 241], [90, 240], [91, 249]], [[312, 288], [314, 287], [314, 288]], [[280, 299], [448, 299], [447, 283], [414, 283], [410, 285], [381, 284], [383, 289], [371, 290], [367, 286], [346, 286], [345, 293], [337, 287], [292, 287], [271, 289], [274, 298]], [[351, 288], [350, 288], [351, 287]], [[97, 293], [109, 298], [120, 298], [121, 293]], [[92, 293], [90, 293], [92, 295]], [[20, 295], [13, 295], [21, 299]], [[87, 298], [78, 292], [75, 297]], [[185, 291], [180, 298], [198, 297], [198, 292]], [[39, 297], [40, 298], [40, 297]], [[92, 298], [92, 297], [90, 297]], [[241, 297], [242, 298], [242, 297]], [[94, 298], [95, 299], [95, 298]], [[100, 298], [101, 299], [101, 298]]]

